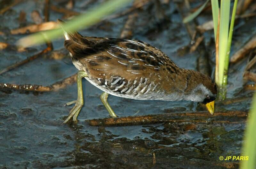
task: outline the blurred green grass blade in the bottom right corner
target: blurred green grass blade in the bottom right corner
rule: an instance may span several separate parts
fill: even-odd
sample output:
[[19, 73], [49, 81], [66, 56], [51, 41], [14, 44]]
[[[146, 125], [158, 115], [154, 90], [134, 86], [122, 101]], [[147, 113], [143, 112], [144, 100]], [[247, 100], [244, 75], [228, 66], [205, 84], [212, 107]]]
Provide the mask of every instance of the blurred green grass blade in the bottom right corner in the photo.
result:
[[241, 169], [255, 168], [256, 165], [256, 93], [254, 93], [249, 115], [250, 116], [245, 130], [244, 143], [242, 149], [242, 156], [248, 156], [249, 160], [241, 161]]

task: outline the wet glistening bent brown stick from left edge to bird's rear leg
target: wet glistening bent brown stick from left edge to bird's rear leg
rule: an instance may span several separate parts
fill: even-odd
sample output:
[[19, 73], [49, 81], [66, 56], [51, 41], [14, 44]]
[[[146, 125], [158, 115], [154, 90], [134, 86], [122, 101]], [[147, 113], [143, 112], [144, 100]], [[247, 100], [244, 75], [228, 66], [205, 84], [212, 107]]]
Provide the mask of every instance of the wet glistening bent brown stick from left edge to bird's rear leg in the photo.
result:
[[58, 91], [61, 88], [65, 88], [67, 85], [70, 85], [76, 81], [76, 74], [58, 81], [50, 86], [41, 86], [41, 85], [31, 85], [31, 84], [8, 84], [0, 83], [0, 89], [15, 89], [22, 91], [37, 91], [37, 92], [49, 92], [49, 91]]

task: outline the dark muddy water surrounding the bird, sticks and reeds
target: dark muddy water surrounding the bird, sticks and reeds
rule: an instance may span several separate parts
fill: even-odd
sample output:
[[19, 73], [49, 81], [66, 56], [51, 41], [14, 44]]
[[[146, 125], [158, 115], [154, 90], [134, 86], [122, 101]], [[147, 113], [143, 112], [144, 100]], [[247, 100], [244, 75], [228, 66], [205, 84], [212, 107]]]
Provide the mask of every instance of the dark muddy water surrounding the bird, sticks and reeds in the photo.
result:
[[[4, 1], [7, 3], [7, 1]], [[64, 2], [64, 1], [63, 1]], [[55, 5], [64, 7], [62, 1]], [[81, 6], [84, 11], [98, 3]], [[23, 35], [11, 35], [11, 29], [19, 27], [20, 11], [26, 11], [26, 24], [32, 23], [31, 11], [42, 11], [41, 1], [26, 1], [14, 6], [0, 16], [1, 42], [14, 44]], [[128, 9], [128, 7], [124, 8]], [[180, 56], [177, 50], [187, 46], [190, 38], [181, 22], [175, 4], [163, 5], [164, 22], [154, 15], [156, 9], [147, 5], [139, 13], [133, 38], [145, 41], [164, 51], [180, 67], [195, 69], [198, 53]], [[50, 20], [62, 14], [51, 11]], [[105, 21], [82, 30], [86, 36], [117, 38], [127, 16]], [[207, 17], [206, 17], [207, 18]], [[209, 18], [209, 17], [208, 17]], [[203, 22], [205, 18], [201, 18]], [[254, 21], [241, 21], [234, 34], [232, 53], [255, 33]], [[252, 32], [252, 33], [248, 33]], [[206, 42], [213, 37], [207, 32]], [[54, 50], [63, 48], [64, 39], [53, 42]], [[0, 69], [40, 52], [45, 46], [33, 46], [18, 53], [12, 49], [0, 51]], [[209, 48], [214, 53], [214, 48]], [[214, 61], [214, 57], [210, 56]], [[228, 97], [251, 96], [241, 92], [245, 60], [231, 65], [228, 81]], [[214, 64], [212, 64], [214, 65]], [[0, 82], [50, 85], [76, 73], [67, 55], [53, 60], [47, 55], [0, 75]], [[220, 161], [220, 156], [239, 156], [245, 123], [159, 123], [124, 127], [92, 127], [84, 120], [108, 117], [100, 101], [101, 91], [83, 80], [84, 107], [75, 124], [60, 125], [68, 115], [66, 102], [76, 99], [76, 84], [57, 92], [0, 91], [0, 168], [236, 168], [238, 161]], [[197, 103], [138, 101], [109, 96], [109, 103], [118, 116], [162, 114], [196, 111]], [[216, 104], [217, 111], [248, 110], [251, 99], [224, 105]], [[204, 109], [204, 108], [201, 108]], [[209, 115], [210, 119], [210, 115]], [[229, 119], [227, 119], [229, 120]], [[232, 118], [236, 121], [237, 119]], [[239, 121], [239, 120], [237, 120]]]

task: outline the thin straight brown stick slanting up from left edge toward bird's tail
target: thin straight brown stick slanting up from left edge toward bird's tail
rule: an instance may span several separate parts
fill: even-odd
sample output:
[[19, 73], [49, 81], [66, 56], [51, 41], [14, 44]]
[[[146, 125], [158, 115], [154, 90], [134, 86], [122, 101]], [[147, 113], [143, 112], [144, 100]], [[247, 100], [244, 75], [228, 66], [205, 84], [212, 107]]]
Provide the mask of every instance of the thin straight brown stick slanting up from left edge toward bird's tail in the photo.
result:
[[47, 47], [46, 49], [44, 49], [42, 52], [39, 52], [39, 53], [37, 53], [37, 54], [35, 54], [35, 55], [33, 55], [33, 56], [31, 56], [31, 57], [25, 59], [25, 60], [22, 60], [21, 62], [18, 62], [18, 63], [16, 63], [16, 64], [12, 65], [12, 66], [9, 66], [9, 67], [4, 68], [2, 71], [0, 71], [0, 75], [3, 74], [3, 73], [5, 73], [5, 72], [7, 72], [7, 71], [9, 71], [9, 70], [12, 70], [12, 69], [14, 69], [14, 68], [16, 68], [16, 67], [19, 67], [19, 66], [21, 66], [21, 65], [23, 65], [23, 64], [25, 64], [25, 63], [28, 63], [29, 61], [35, 60], [35, 59], [38, 58], [39, 56], [42, 56], [44, 53], [47, 53], [47, 52], [49, 52], [49, 51], [51, 51], [51, 50], [52, 50], [52, 48], [48, 46], [48, 47]]

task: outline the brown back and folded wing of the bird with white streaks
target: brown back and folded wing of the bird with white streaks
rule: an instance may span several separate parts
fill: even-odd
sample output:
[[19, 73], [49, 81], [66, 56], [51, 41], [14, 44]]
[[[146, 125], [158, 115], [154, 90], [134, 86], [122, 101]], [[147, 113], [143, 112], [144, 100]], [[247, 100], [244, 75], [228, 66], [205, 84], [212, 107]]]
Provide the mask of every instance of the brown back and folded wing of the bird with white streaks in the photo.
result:
[[[83, 38], [93, 41], [94, 44], [79, 44], [73, 40], [66, 40], [65, 47], [86, 67], [91, 78], [97, 80], [99, 85], [106, 85], [111, 90], [124, 92], [124, 87], [128, 91], [137, 87], [143, 89], [152, 82], [156, 85], [162, 81], [162, 78], [175, 79], [180, 71], [180, 68], [162, 51], [145, 42]], [[140, 85], [141, 83], [143, 85]], [[128, 87], [127, 84], [129, 84]]]

